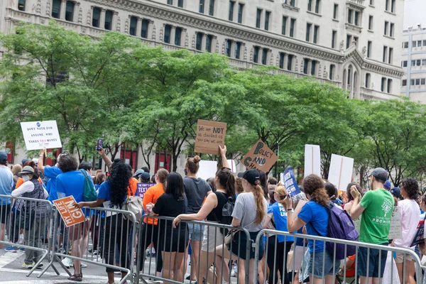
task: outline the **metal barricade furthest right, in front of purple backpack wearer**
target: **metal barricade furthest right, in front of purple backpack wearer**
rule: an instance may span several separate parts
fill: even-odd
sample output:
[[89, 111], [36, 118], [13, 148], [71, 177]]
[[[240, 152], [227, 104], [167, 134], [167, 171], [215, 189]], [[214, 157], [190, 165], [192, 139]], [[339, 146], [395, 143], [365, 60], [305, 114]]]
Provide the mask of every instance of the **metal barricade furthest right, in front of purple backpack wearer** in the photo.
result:
[[[277, 236], [283, 237], [284, 244], [278, 244]], [[299, 241], [297, 241], [297, 239], [299, 239]], [[312, 251], [312, 258], [315, 259], [315, 261], [312, 261], [312, 266], [310, 266], [311, 252], [307, 245], [308, 240], [313, 241], [314, 248], [316, 247], [315, 244], [324, 244], [324, 251]], [[269, 273], [273, 273], [272, 276], [270, 274], [270, 280], [268, 282], [270, 284], [284, 283], [283, 275], [287, 275], [287, 277], [290, 278], [288, 279], [290, 283], [293, 283], [293, 280], [297, 279], [297, 277], [301, 283], [303, 283], [303, 280], [306, 280], [307, 277], [310, 277], [310, 283], [312, 283], [312, 274], [323, 275], [322, 283], [327, 284], [325, 276], [329, 273], [329, 271], [324, 271], [326, 261], [332, 261], [332, 265], [328, 266], [331, 267], [330, 275], [336, 276], [336, 280], [333, 280], [332, 283], [359, 283], [359, 279], [361, 278], [361, 276], [359, 275], [358, 263], [361, 251], [362, 253], [364, 253], [364, 255], [366, 255], [366, 259], [374, 258], [377, 260], [378, 271], [385, 269], [383, 278], [379, 278], [378, 283], [400, 283], [399, 280], [396, 279], [398, 278], [398, 271], [393, 261], [395, 253], [403, 254], [403, 279], [401, 279], [401, 283], [405, 283], [405, 271], [407, 269], [405, 266], [405, 261], [408, 258], [412, 258], [415, 262], [415, 276], [417, 284], [423, 283], [422, 269], [425, 269], [425, 267], [421, 266], [420, 258], [419, 256], [417, 256], [415, 251], [411, 251], [410, 249], [401, 249], [396, 248], [395, 246], [366, 244], [356, 241], [346, 241], [342, 239], [331, 239], [322, 236], [290, 234], [285, 231], [265, 229], [261, 231], [256, 238], [256, 259], [260, 254], [258, 249], [259, 244], [261, 244], [261, 242], [263, 241], [266, 241], [266, 249], [263, 257], [266, 258], [268, 261], [266, 261], [263, 267], [261, 267], [261, 262], [256, 262], [256, 268], [252, 273], [255, 273], [255, 275], [257, 275], [258, 269], [268, 271], [269, 268]], [[332, 259], [329, 259], [329, 256], [326, 256], [327, 249], [325, 244], [327, 242], [332, 243], [332, 247], [334, 247], [334, 251], [329, 251], [329, 256], [331, 256]], [[299, 245], [297, 246], [296, 243], [298, 243]], [[344, 244], [344, 258], [342, 260], [336, 258], [336, 244]], [[282, 248], [278, 249], [279, 246], [284, 246], [285, 253], [278, 252], [283, 250]], [[353, 256], [348, 255], [348, 246], [356, 246], [356, 253]], [[318, 255], [318, 257], [315, 258], [315, 255]], [[386, 258], [386, 261], [384, 261], [383, 258]], [[383, 261], [380, 261], [381, 259], [383, 259]], [[321, 269], [315, 268], [315, 266], [318, 267], [319, 264], [322, 267], [322, 271]], [[385, 266], [384, 268], [383, 265]], [[363, 270], [369, 271], [370, 268], [370, 263], [366, 261], [365, 265], [363, 266]], [[278, 273], [274, 273], [275, 271], [280, 271], [280, 276], [278, 276]], [[288, 274], [285, 274], [287, 271]], [[298, 271], [298, 273], [296, 273], [296, 271]], [[255, 279], [257, 278], [255, 277]], [[266, 283], [266, 279], [267, 278], [265, 278], [264, 283]], [[373, 283], [371, 278], [366, 278], [366, 281], [367, 284]], [[255, 284], [258, 284], [257, 281], [255, 282]]]

